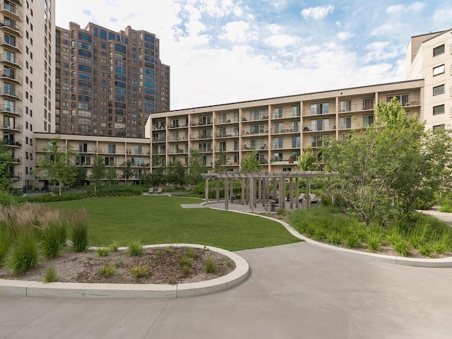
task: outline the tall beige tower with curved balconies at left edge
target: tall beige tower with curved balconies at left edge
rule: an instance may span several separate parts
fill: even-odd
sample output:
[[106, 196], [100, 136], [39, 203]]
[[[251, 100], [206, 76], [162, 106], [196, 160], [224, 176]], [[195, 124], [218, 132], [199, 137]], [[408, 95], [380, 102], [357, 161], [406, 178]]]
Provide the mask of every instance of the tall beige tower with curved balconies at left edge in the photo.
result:
[[13, 188], [33, 179], [33, 133], [54, 131], [54, 1], [0, 4], [0, 133], [11, 151]]

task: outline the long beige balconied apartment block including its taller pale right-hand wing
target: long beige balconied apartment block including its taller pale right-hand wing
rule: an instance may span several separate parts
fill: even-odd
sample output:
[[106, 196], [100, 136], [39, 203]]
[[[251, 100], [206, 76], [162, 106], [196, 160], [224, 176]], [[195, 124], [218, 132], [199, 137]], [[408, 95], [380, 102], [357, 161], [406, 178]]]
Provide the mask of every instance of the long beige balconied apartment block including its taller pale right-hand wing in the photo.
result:
[[[203, 155], [209, 169], [215, 157], [226, 152], [227, 165], [238, 170], [244, 155], [256, 150], [263, 170], [294, 170], [305, 148], [320, 150], [326, 138], [340, 139], [352, 129], [371, 124], [379, 101], [397, 97], [410, 116], [427, 121], [427, 128], [451, 125], [451, 32], [412, 37], [407, 49], [408, 81], [160, 112], [148, 118], [144, 139], [61, 137], [66, 145], [81, 150], [79, 165], [90, 167], [87, 157], [102, 155], [120, 174], [124, 161], [138, 157], [133, 160], [136, 179], [157, 166], [154, 155], [166, 163], [187, 164], [191, 150]], [[52, 137], [35, 134], [37, 166], [42, 148]]]

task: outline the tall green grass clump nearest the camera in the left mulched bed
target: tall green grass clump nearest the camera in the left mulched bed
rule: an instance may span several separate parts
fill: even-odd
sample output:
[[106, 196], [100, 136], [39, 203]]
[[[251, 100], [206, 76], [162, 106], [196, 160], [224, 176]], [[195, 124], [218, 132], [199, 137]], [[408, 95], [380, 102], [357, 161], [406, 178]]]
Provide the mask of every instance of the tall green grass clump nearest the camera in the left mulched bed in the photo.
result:
[[23, 231], [16, 239], [7, 257], [7, 267], [13, 275], [19, 275], [34, 268], [39, 246], [32, 231]]

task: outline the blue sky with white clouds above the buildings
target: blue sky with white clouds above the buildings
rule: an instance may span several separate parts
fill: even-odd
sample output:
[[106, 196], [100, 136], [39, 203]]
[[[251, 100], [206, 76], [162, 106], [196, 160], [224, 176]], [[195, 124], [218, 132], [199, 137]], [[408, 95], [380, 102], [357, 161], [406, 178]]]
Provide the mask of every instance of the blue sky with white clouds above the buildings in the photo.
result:
[[172, 110], [404, 81], [410, 37], [452, 28], [450, 0], [56, 0], [55, 15], [154, 33]]

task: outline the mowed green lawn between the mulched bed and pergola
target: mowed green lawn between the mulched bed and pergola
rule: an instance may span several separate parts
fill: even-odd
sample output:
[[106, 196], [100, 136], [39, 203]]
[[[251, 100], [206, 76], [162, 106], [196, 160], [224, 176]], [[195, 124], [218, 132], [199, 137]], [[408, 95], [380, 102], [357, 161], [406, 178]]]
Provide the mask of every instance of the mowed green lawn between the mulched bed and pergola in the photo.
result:
[[205, 244], [230, 251], [299, 242], [278, 222], [258, 216], [182, 208], [201, 199], [170, 196], [119, 196], [48, 203], [52, 208], [78, 210], [89, 215], [90, 246], [116, 241], [142, 244]]

